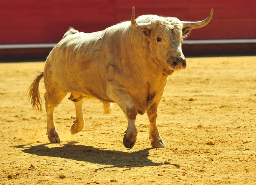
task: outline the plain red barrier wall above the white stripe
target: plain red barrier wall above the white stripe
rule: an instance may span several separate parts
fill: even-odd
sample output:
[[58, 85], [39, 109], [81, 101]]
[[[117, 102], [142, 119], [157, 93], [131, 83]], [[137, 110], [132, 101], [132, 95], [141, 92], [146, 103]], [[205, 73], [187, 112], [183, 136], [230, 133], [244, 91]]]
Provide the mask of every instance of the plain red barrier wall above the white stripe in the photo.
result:
[[57, 43], [72, 26], [105, 29], [136, 16], [158, 14], [197, 21], [214, 8], [211, 22], [188, 39], [256, 38], [256, 0], [0, 0], [0, 44]]

